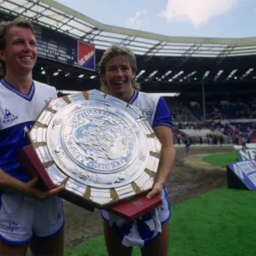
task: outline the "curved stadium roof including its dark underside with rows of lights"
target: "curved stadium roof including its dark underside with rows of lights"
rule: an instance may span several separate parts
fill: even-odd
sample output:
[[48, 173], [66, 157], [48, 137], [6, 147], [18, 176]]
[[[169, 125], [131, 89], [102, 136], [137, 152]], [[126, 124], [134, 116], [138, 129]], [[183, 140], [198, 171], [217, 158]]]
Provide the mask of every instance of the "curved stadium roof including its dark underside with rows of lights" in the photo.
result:
[[[255, 91], [256, 38], [167, 37], [108, 26], [52, 0], [0, 0], [0, 13], [23, 16], [39, 26], [96, 46], [96, 63], [113, 43], [137, 55], [137, 82], [148, 92]], [[39, 58], [34, 78], [59, 90], [99, 89], [99, 74]], [[207, 85], [208, 84], [208, 85]], [[255, 89], [254, 89], [255, 88]]]

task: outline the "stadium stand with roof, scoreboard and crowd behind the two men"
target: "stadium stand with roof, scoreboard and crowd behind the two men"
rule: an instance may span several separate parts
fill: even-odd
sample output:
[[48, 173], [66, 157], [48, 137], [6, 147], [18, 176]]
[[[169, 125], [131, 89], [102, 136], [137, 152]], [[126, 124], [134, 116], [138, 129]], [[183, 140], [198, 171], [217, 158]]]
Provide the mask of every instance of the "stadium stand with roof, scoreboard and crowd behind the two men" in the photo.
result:
[[108, 26], [52, 0], [3, 0], [0, 20], [32, 20], [38, 39], [34, 79], [59, 96], [100, 89], [97, 63], [110, 44], [137, 55], [137, 82], [167, 97], [173, 138], [182, 144], [256, 140], [256, 38], [181, 38]]

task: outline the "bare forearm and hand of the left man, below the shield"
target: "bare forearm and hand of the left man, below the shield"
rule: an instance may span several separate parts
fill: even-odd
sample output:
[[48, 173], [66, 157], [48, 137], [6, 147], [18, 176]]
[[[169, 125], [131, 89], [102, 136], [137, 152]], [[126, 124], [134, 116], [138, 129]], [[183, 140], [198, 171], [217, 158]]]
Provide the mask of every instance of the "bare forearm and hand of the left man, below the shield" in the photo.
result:
[[38, 178], [34, 178], [28, 183], [21, 182], [15, 177], [9, 176], [7, 173], [0, 169], [0, 189], [7, 191], [16, 191], [22, 195], [32, 197], [37, 200], [44, 200], [49, 197], [58, 195], [64, 187], [58, 187], [47, 192], [36, 189]]

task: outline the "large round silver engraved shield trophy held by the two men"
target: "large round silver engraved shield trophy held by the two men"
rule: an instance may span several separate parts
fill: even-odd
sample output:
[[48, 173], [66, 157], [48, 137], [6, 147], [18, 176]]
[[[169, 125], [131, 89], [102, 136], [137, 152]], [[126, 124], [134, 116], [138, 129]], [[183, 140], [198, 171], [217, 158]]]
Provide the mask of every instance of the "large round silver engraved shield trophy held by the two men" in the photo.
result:
[[29, 132], [55, 185], [96, 207], [152, 188], [160, 142], [136, 107], [99, 90], [49, 102]]

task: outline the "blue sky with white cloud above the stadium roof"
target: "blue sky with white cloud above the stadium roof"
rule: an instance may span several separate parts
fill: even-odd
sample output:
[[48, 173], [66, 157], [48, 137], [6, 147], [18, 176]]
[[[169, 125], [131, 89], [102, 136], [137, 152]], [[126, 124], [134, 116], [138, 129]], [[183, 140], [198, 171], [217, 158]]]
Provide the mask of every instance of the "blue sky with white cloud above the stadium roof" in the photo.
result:
[[106, 25], [173, 37], [256, 37], [256, 0], [55, 0]]

